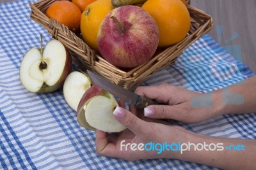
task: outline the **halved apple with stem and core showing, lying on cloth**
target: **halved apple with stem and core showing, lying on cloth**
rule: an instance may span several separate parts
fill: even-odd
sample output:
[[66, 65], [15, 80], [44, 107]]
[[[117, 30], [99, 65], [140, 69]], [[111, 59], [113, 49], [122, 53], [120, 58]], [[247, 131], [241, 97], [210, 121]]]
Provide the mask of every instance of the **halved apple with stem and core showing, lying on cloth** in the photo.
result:
[[53, 39], [41, 49], [31, 48], [20, 63], [20, 81], [30, 92], [53, 92], [63, 85], [72, 69], [72, 58], [67, 48]]

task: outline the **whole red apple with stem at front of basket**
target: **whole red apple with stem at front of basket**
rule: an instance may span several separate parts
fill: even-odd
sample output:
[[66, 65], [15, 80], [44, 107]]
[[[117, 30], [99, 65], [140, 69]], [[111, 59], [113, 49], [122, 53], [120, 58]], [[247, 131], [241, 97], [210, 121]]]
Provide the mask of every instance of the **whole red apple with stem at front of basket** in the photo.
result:
[[147, 62], [156, 52], [158, 41], [154, 18], [134, 5], [110, 11], [98, 32], [102, 57], [118, 67], [136, 67]]

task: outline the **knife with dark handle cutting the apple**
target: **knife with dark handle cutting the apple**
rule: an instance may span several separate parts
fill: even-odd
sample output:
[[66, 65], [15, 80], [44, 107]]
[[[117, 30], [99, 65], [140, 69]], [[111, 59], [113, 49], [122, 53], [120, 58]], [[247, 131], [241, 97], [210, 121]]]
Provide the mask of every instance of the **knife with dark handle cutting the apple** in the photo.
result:
[[113, 96], [123, 99], [125, 102], [129, 102], [129, 104], [133, 104], [137, 108], [145, 108], [148, 105], [159, 104], [152, 99], [148, 99], [147, 97], [140, 96], [134, 92], [131, 92], [130, 90], [124, 89], [123, 87], [112, 83], [106, 78], [93, 73], [92, 71], [88, 70], [88, 74], [94, 84], [106, 90]]

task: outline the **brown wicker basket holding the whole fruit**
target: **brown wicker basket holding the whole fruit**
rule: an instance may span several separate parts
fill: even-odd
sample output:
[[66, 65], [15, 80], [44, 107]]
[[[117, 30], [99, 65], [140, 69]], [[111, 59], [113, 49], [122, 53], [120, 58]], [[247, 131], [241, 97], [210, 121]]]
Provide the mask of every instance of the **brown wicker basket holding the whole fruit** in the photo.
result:
[[51, 34], [52, 38], [58, 39], [70, 50], [72, 59], [77, 64], [78, 69], [81, 71], [86, 71], [86, 69], [95, 71], [117, 85], [130, 90], [138, 87], [159, 69], [172, 65], [183, 50], [212, 29], [212, 17], [204, 11], [190, 6], [189, 1], [187, 1], [191, 17], [191, 28], [188, 36], [179, 43], [163, 49], [161, 53], [152, 57], [145, 64], [130, 71], [122, 71], [107, 62], [99, 53], [93, 51], [84, 43], [80, 35], [77, 36], [69, 31], [65, 25], [46, 17], [45, 11], [54, 1], [56, 0], [41, 0], [30, 4], [31, 20], [42, 25]]

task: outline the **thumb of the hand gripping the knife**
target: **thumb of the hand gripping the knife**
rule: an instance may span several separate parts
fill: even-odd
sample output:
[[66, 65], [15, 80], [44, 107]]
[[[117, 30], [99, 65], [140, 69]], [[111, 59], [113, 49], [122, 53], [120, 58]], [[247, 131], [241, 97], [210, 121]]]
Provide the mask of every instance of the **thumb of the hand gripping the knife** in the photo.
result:
[[180, 119], [180, 111], [173, 106], [151, 105], [144, 108], [144, 116], [149, 118], [170, 118], [174, 120]]

